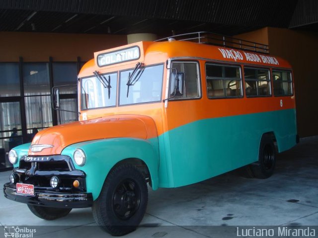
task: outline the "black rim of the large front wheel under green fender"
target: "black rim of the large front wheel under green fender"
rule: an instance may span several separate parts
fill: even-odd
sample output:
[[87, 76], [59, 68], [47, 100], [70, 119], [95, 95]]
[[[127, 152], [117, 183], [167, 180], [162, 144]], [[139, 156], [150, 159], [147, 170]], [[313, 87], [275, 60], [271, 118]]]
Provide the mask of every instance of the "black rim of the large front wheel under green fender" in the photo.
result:
[[113, 211], [122, 220], [131, 218], [140, 205], [140, 188], [136, 181], [124, 179], [113, 193]]

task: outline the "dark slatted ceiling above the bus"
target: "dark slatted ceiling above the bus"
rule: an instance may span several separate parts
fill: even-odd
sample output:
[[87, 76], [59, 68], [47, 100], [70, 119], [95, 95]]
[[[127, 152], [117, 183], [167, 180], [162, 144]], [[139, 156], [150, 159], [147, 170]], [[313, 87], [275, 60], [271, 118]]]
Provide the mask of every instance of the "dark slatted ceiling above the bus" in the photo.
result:
[[0, 0], [0, 31], [235, 35], [317, 18], [317, 0]]

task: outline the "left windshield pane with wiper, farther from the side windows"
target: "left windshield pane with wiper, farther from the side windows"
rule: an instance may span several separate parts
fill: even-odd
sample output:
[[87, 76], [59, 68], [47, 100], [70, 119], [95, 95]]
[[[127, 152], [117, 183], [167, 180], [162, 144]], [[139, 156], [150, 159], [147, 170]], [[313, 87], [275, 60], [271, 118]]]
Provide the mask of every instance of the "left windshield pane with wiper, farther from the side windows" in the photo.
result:
[[110, 88], [96, 76], [81, 79], [81, 109], [116, 106], [117, 73], [102, 74]]

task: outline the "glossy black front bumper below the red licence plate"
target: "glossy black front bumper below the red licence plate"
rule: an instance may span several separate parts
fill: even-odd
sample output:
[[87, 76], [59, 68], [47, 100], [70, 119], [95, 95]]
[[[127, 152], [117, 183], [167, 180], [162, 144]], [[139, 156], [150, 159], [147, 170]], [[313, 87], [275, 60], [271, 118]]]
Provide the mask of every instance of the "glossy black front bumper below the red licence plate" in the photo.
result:
[[35, 188], [35, 195], [23, 195], [16, 192], [15, 184], [10, 182], [3, 186], [4, 196], [10, 200], [30, 205], [56, 208], [84, 208], [91, 207], [93, 197], [91, 193], [61, 193], [53, 191], [39, 191]]

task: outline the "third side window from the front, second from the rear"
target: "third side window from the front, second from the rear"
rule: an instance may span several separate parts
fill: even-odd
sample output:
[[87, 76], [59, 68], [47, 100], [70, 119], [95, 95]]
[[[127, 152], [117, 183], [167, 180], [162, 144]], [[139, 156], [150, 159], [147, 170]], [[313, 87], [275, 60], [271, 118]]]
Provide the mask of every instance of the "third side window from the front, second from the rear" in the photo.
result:
[[244, 68], [245, 91], [248, 97], [270, 96], [268, 69]]

